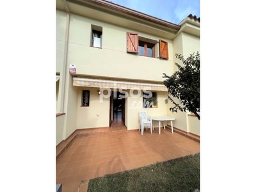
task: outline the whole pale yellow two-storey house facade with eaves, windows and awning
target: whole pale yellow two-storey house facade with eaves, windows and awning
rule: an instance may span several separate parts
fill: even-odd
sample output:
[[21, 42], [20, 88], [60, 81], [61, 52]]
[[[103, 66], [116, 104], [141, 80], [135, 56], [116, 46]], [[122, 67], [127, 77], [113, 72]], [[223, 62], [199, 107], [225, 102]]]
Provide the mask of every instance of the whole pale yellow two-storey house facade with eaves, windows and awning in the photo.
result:
[[56, 8], [56, 145], [77, 129], [138, 129], [141, 110], [200, 135], [195, 116], [169, 110], [162, 77], [177, 70], [175, 53], [200, 51], [199, 19], [172, 24], [100, 0], [57, 0]]

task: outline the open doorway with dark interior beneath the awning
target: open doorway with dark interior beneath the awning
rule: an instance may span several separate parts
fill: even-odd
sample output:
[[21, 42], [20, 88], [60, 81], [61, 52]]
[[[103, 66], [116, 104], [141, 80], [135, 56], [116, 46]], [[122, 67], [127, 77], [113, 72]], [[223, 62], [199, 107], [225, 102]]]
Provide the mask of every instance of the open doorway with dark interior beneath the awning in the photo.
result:
[[123, 126], [125, 122], [125, 99], [120, 92], [112, 92], [110, 97], [109, 127]]

